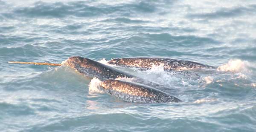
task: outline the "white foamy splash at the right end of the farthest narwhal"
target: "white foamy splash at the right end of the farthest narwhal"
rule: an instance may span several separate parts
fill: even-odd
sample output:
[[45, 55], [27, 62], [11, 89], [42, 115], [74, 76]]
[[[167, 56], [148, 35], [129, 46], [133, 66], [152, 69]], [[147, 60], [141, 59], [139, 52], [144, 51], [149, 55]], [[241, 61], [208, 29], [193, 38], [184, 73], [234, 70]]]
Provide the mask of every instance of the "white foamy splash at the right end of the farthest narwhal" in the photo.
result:
[[218, 71], [223, 72], [239, 72], [245, 68], [245, 61], [241, 60], [230, 60], [227, 64], [218, 67]]

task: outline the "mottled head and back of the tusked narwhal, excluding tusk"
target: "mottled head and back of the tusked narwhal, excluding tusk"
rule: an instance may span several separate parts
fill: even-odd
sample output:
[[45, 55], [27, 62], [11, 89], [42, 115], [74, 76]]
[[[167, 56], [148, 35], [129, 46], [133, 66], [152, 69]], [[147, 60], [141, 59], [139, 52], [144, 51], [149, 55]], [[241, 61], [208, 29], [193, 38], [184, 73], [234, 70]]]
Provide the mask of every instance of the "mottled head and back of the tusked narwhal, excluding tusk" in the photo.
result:
[[82, 73], [87, 77], [97, 77], [101, 81], [110, 78], [115, 79], [118, 77], [136, 77], [134, 75], [129, 75], [128, 73], [115, 69], [111, 66], [99, 63], [98, 61], [80, 56], [69, 57], [64, 63], [64, 65], [76, 69], [78, 72]]

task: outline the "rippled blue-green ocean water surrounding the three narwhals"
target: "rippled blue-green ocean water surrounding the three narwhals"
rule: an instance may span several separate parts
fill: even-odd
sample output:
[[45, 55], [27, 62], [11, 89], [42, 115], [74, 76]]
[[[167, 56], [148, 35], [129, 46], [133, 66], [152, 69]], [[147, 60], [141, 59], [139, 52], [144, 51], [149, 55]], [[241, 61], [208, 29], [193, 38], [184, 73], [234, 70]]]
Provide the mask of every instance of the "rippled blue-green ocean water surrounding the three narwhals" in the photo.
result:
[[[255, 0], [0, 0], [1, 132], [255, 132]], [[61, 63], [157, 56], [218, 69], [123, 71], [181, 103], [127, 103]], [[198, 76], [195, 76], [197, 74]]]

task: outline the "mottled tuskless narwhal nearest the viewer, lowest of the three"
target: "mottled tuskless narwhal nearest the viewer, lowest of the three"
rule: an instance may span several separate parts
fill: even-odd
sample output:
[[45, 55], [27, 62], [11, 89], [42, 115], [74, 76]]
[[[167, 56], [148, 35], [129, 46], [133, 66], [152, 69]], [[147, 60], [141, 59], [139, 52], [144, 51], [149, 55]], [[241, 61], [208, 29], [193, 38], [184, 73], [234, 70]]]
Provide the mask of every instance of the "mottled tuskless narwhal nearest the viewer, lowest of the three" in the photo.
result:
[[100, 83], [110, 95], [127, 102], [138, 103], [168, 103], [181, 100], [167, 93], [139, 83], [108, 79]]

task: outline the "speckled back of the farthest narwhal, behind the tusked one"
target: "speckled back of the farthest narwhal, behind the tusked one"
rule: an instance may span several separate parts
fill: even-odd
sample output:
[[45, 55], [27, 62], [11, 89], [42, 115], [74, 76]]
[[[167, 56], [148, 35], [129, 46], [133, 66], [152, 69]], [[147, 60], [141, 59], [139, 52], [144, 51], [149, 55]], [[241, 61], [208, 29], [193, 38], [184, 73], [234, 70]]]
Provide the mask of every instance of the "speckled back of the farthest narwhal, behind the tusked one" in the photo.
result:
[[109, 60], [109, 64], [123, 67], [136, 67], [141, 69], [151, 69], [153, 65], [160, 66], [163, 64], [163, 68], [166, 71], [170, 70], [182, 70], [182, 69], [194, 69], [194, 68], [215, 68], [213, 66], [207, 66], [201, 63], [196, 63], [188, 60], [177, 60], [164, 57], [128, 57], [128, 58], [114, 58]]

